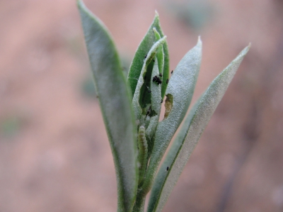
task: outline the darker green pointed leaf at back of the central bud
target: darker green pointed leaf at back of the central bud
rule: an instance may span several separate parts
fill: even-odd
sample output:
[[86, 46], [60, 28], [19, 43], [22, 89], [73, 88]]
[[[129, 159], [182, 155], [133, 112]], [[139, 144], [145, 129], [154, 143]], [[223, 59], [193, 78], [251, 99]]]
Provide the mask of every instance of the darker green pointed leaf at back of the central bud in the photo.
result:
[[[129, 74], [127, 77], [127, 84], [129, 85], [132, 95], [134, 95], [134, 91], [137, 87], [137, 81], [141, 74], [141, 69], [144, 65], [144, 58], [146, 57], [147, 53], [151, 49], [152, 45], [156, 43], [156, 38], [154, 35], [153, 29], [156, 28], [156, 31], [161, 35], [161, 38], [164, 37], [163, 32], [161, 30], [161, 26], [159, 23], [159, 16], [156, 12], [156, 16], [154, 17], [154, 22], [151, 23], [149, 30], [147, 31], [146, 35], [144, 36], [143, 40], [139, 44], [137, 52], [134, 55], [134, 59], [132, 60], [132, 64], [129, 67]], [[163, 51], [164, 51], [164, 70], [163, 75], [168, 77], [169, 75], [169, 55], [168, 55], [168, 45], [167, 43], [163, 43]], [[166, 86], [164, 86], [166, 89]], [[165, 93], [165, 90], [164, 90]], [[164, 96], [164, 95], [163, 95]]]

